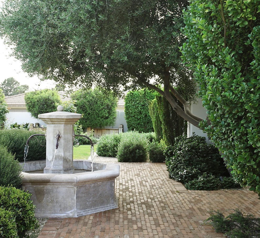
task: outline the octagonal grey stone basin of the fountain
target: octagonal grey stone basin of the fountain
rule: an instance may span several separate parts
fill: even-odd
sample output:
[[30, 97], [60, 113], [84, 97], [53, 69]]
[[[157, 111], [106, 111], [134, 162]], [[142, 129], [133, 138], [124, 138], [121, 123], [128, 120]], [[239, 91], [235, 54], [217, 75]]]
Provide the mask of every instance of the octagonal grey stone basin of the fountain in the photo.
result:
[[[23, 164], [23, 163], [22, 163]], [[32, 194], [37, 218], [79, 217], [117, 208], [119, 165], [74, 160], [74, 174], [44, 174], [45, 161], [23, 164], [22, 189]]]

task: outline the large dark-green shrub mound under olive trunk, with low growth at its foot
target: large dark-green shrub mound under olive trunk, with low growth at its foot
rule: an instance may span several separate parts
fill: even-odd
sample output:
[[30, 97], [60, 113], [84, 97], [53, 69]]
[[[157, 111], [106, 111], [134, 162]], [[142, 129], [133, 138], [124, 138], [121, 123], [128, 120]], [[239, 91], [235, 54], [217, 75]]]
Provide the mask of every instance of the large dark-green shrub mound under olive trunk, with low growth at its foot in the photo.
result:
[[[179, 136], [165, 149], [169, 177], [187, 189], [216, 190], [237, 187], [230, 177], [219, 151], [205, 137]], [[221, 181], [220, 177], [223, 177]]]

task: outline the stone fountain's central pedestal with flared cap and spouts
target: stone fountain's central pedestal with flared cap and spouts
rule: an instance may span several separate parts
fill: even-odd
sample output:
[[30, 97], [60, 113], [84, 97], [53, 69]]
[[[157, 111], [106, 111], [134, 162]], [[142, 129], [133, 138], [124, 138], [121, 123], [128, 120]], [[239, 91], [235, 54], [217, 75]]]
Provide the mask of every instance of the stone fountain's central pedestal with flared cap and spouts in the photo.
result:
[[[49, 112], [38, 115], [46, 123], [46, 167], [47, 174], [73, 174], [73, 125], [81, 114], [71, 112]], [[57, 135], [58, 149], [56, 149]]]

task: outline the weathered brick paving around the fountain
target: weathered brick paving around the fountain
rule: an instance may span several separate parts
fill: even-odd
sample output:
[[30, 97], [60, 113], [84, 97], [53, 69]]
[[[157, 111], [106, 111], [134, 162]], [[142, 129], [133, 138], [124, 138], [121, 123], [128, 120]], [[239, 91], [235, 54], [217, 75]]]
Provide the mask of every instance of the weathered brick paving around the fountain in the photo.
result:
[[257, 194], [248, 190], [191, 191], [168, 178], [162, 163], [119, 163], [118, 209], [80, 218], [51, 218], [38, 238], [225, 237], [202, 222], [209, 210], [239, 208], [260, 216]]

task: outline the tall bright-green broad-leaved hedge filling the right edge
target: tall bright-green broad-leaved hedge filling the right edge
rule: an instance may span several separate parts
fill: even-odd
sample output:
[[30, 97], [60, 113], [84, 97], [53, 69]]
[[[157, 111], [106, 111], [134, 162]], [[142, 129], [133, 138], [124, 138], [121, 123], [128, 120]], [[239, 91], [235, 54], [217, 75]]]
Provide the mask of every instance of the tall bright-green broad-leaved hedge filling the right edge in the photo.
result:
[[232, 176], [260, 195], [259, 1], [191, 1], [183, 59], [192, 66], [210, 125], [202, 128]]

